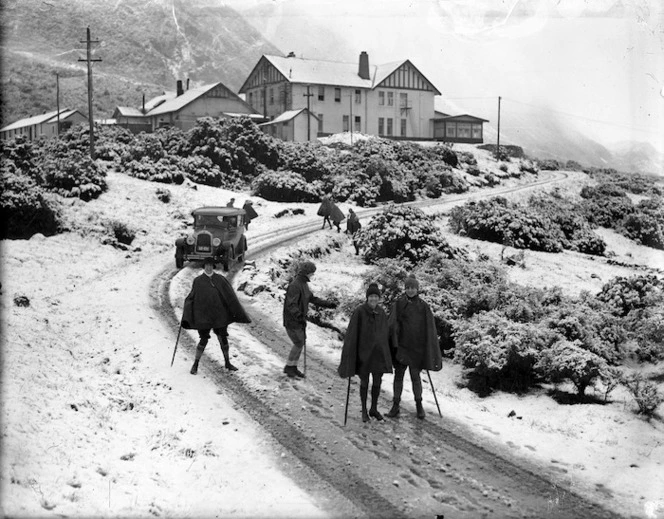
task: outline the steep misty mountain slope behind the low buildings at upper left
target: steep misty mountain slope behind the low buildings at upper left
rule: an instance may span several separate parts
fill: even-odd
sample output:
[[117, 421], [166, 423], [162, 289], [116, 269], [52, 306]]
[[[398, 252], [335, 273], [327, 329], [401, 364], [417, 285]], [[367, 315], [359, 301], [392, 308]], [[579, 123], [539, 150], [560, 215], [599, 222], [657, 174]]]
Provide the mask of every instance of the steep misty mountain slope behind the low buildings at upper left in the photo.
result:
[[5, 2], [2, 46], [3, 125], [61, 106], [87, 112], [86, 28], [91, 30], [95, 117], [141, 97], [222, 81], [237, 90], [264, 53], [281, 54], [233, 9], [218, 2], [183, 0], [38, 0]]

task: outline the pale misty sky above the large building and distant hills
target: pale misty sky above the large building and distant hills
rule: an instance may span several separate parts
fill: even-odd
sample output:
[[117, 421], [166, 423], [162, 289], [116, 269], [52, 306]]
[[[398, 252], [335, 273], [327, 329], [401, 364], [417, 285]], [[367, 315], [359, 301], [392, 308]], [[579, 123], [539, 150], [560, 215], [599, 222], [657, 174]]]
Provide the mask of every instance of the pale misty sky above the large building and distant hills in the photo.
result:
[[603, 144], [649, 142], [664, 153], [661, 0], [223, 3], [284, 52], [410, 59], [442, 99], [473, 115], [495, 122], [500, 96], [502, 111], [555, 114]]

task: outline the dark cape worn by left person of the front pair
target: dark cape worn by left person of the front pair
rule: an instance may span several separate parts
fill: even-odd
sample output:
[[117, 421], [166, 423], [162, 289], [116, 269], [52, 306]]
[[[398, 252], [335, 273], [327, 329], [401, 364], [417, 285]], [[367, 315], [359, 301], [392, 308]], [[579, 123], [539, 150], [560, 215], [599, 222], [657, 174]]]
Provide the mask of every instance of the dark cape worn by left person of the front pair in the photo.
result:
[[364, 303], [355, 309], [346, 330], [337, 373], [341, 378], [367, 373], [392, 373], [389, 325], [382, 307], [372, 310]]

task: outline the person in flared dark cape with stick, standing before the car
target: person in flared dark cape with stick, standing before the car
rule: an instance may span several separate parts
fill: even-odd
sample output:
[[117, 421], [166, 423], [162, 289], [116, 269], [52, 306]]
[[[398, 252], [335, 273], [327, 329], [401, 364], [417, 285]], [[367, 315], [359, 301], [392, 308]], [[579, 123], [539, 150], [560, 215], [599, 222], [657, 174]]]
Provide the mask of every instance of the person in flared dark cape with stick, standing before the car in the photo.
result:
[[214, 331], [224, 354], [226, 369], [237, 371], [231, 364], [228, 345], [228, 325], [231, 323], [250, 323], [242, 304], [237, 298], [233, 287], [221, 274], [214, 271], [214, 258], [203, 261], [204, 272], [194, 279], [191, 292], [184, 300], [182, 327], [187, 330], [198, 330], [199, 342], [196, 347], [196, 359], [190, 373], [198, 373], [205, 346], [210, 339], [210, 331]]

